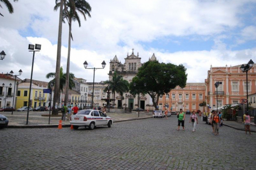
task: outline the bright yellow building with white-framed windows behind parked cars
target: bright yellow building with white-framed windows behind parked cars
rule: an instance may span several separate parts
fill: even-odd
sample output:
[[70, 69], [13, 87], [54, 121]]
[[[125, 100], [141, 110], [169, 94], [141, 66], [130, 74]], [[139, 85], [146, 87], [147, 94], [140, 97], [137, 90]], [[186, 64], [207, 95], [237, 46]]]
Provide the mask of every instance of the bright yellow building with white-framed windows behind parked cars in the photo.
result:
[[[47, 89], [48, 82], [42, 82], [37, 80], [32, 80], [31, 85], [31, 95], [30, 95], [30, 107], [37, 106], [48, 106], [50, 102], [49, 94], [43, 93], [43, 89]], [[28, 106], [29, 97], [29, 86], [30, 79], [24, 79], [18, 86], [17, 94], [17, 108]]]

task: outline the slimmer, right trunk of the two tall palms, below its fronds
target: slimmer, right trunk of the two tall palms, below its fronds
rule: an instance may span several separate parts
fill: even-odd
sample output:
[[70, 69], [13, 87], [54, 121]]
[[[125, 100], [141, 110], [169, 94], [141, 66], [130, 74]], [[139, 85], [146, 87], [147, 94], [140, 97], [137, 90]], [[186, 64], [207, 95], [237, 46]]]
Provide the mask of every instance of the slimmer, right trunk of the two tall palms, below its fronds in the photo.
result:
[[67, 71], [66, 71], [66, 88], [65, 88], [65, 99], [64, 103], [68, 103], [69, 97], [69, 66], [70, 66], [70, 43], [71, 43], [71, 22], [72, 19], [69, 18], [69, 47], [68, 47], [68, 60], [67, 60]]

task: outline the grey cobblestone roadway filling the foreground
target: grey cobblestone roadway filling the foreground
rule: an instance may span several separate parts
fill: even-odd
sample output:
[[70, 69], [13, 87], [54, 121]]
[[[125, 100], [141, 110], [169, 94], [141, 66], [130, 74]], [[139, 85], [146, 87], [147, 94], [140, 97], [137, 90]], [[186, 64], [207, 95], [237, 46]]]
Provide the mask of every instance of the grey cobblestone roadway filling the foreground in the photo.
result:
[[199, 121], [196, 132], [176, 116], [114, 123], [111, 128], [0, 130], [0, 169], [175, 170], [256, 168], [256, 135]]

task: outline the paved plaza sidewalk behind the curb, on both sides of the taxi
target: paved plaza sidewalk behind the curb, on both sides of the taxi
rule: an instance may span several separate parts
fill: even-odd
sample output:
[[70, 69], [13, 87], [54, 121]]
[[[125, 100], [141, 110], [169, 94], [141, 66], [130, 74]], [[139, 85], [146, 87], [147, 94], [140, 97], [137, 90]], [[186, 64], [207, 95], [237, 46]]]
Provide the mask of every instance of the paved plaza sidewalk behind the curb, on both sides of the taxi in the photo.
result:
[[[27, 112], [0, 112], [8, 118], [8, 128], [55, 128], [59, 125], [61, 113], [58, 116], [51, 115], [49, 124], [49, 112], [29, 112], [28, 124]], [[136, 112], [132, 113], [106, 113], [113, 119], [113, 122], [122, 122], [137, 119], [152, 118], [152, 112], [140, 112], [140, 117]], [[42, 116], [43, 115], [43, 116]], [[70, 127], [69, 121], [62, 121], [62, 127]]]

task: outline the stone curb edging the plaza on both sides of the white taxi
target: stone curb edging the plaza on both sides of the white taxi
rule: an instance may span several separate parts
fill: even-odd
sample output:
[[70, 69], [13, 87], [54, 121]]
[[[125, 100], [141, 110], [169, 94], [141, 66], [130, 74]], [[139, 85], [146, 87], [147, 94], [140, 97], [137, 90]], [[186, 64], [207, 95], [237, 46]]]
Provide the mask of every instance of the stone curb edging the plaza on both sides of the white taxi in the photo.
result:
[[[130, 120], [118, 120], [118, 121], [113, 121], [113, 123], [118, 123], [118, 122], [126, 122], [126, 121], [131, 121], [131, 120], [140, 120], [140, 119], [148, 119], [148, 118], [152, 118], [152, 117], [146, 117], [146, 118], [134, 118], [134, 119], [130, 119]], [[58, 128], [58, 124], [57, 125], [26, 125], [26, 126], [16, 126], [16, 125], [8, 125], [6, 128], [10, 128], [10, 129], [26, 129], [26, 128]], [[71, 125], [70, 124], [65, 124], [62, 125], [62, 128], [69, 128]]]

